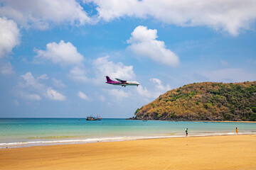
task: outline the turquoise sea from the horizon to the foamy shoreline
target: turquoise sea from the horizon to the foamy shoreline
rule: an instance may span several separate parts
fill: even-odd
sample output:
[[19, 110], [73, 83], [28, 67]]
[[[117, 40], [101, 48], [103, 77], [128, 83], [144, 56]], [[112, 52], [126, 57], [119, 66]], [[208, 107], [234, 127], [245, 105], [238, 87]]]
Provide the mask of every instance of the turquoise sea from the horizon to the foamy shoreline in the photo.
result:
[[256, 134], [256, 123], [85, 118], [0, 118], [0, 148], [210, 135]]

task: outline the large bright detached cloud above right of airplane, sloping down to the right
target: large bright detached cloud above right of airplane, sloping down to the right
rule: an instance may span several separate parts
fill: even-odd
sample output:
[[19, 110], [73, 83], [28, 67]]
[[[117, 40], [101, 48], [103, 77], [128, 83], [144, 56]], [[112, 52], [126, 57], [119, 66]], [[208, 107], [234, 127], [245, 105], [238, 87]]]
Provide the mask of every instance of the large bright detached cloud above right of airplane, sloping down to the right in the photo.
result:
[[127, 40], [127, 47], [138, 56], [149, 57], [155, 62], [174, 67], [178, 64], [178, 56], [166, 49], [164, 41], [156, 40], [157, 30], [148, 29], [146, 26], [137, 26], [132, 32], [132, 37]]

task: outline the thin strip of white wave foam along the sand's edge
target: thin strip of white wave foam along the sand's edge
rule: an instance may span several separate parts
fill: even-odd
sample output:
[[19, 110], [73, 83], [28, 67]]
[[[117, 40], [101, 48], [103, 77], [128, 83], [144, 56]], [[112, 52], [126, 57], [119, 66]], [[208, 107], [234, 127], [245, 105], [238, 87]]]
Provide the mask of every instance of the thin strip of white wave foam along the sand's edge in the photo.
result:
[[[190, 135], [189, 137], [202, 137], [202, 136], [221, 136], [221, 135], [235, 135], [234, 132], [215, 132], [215, 133], [198, 133]], [[239, 132], [239, 135], [256, 135], [256, 132]], [[90, 142], [114, 142], [125, 140], [146, 140], [146, 139], [160, 139], [160, 138], [173, 138], [184, 137], [184, 135], [154, 135], [154, 136], [122, 136], [122, 137], [98, 137], [80, 140], [43, 140], [43, 141], [28, 141], [28, 142], [6, 142], [0, 143], [0, 149], [6, 147], [31, 147], [35, 145], [61, 145], [61, 144], [80, 144]]]

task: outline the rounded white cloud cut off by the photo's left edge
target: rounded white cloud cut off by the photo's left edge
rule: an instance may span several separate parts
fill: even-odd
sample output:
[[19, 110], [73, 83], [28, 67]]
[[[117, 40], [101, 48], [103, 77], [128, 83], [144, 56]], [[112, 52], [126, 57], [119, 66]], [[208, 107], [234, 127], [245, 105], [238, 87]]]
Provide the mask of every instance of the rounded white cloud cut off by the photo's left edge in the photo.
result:
[[0, 59], [9, 55], [11, 50], [20, 42], [20, 33], [17, 24], [0, 17]]

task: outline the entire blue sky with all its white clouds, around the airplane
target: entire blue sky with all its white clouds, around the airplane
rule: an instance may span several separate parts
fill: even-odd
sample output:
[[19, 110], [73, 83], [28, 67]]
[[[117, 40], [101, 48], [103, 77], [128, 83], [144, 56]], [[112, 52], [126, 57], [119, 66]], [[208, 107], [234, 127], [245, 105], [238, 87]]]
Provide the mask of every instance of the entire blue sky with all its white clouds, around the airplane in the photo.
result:
[[0, 118], [130, 118], [185, 84], [255, 81], [255, 8], [255, 0], [0, 0]]

